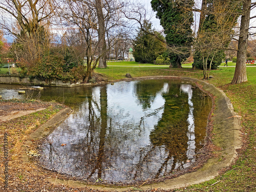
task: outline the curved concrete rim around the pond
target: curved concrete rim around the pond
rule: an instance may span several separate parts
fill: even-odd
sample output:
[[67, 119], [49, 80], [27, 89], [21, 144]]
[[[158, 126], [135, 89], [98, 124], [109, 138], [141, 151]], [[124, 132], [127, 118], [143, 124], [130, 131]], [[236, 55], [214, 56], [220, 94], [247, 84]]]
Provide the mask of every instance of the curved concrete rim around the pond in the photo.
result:
[[[192, 173], [186, 173], [177, 178], [167, 179], [164, 182], [143, 185], [140, 186], [140, 189], [146, 190], [151, 188], [161, 188], [161, 189], [175, 189], [180, 187], [187, 187], [193, 184], [199, 184], [204, 181], [209, 181], [214, 179], [219, 175], [219, 170], [228, 167], [237, 157], [237, 150], [242, 147], [242, 141], [240, 139], [241, 133], [241, 117], [234, 112], [232, 103], [226, 94], [216, 88], [214, 85], [204, 81], [198, 80], [195, 78], [189, 77], [179, 77], [179, 76], [147, 76], [147, 77], [138, 77], [138, 78], [126, 78], [119, 81], [131, 81], [131, 80], [140, 80], [140, 79], [180, 79], [188, 83], [197, 83], [198, 86], [205, 92], [211, 94], [215, 98], [215, 106], [211, 119], [213, 122], [212, 130], [212, 142], [218, 146], [221, 150], [218, 151], [218, 156], [209, 159], [202, 168], [198, 169]], [[116, 81], [115, 81], [116, 82]], [[106, 83], [110, 83], [106, 82]], [[99, 85], [99, 84], [97, 84]], [[65, 120], [73, 111], [69, 108], [58, 112], [53, 118], [48, 122], [41, 125], [35, 132], [33, 132], [26, 145], [29, 146], [32, 144], [31, 140], [42, 139], [49, 135], [52, 130], [55, 129], [63, 120]], [[29, 161], [29, 158], [26, 154], [23, 156], [25, 162]], [[105, 187], [105, 186], [95, 186], [88, 185], [80, 181], [73, 180], [60, 180], [57, 178], [49, 179], [50, 182], [55, 184], [65, 184], [73, 187], [89, 187], [92, 189], [98, 190], [109, 190], [109, 191], [127, 191], [131, 190], [133, 187]]]

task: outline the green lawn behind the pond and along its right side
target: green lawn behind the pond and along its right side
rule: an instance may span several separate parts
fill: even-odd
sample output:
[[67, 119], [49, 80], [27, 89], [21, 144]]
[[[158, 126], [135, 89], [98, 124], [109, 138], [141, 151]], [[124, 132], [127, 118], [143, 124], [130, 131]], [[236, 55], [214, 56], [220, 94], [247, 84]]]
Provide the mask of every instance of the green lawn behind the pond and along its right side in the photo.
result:
[[[184, 64], [184, 66], [189, 65]], [[228, 62], [228, 66], [235, 65], [236, 63]], [[224, 66], [224, 63], [221, 66]], [[232, 85], [230, 82], [234, 70], [234, 67], [212, 70], [210, 75], [214, 78], [208, 82], [222, 89], [231, 100], [234, 111], [242, 116], [244, 150], [240, 150], [237, 162], [215, 179], [174, 191], [256, 191], [256, 68], [247, 68], [247, 82]], [[125, 78], [126, 73], [130, 73], [132, 77], [151, 75], [177, 75], [198, 79], [203, 77], [201, 70], [184, 68], [168, 70], [167, 67], [108, 67], [96, 71], [106, 75], [110, 80]]]

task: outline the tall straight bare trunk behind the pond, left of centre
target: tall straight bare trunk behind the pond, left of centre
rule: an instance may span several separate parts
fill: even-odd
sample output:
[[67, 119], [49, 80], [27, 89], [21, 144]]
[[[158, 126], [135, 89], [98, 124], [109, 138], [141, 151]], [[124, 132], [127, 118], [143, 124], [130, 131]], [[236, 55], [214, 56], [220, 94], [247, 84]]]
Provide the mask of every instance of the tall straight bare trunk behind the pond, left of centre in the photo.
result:
[[99, 65], [98, 68], [106, 68], [106, 41], [105, 41], [105, 22], [102, 11], [101, 0], [95, 0], [96, 12], [98, 17], [98, 51], [99, 51]]

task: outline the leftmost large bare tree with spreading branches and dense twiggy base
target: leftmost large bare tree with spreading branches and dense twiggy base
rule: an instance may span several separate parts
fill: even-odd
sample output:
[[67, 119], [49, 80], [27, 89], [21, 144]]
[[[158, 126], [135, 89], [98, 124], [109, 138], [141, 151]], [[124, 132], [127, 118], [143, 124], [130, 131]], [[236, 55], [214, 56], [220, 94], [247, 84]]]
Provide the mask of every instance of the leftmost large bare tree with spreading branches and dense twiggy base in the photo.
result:
[[11, 55], [22, 72], [33, 73], [51, 40], [47, 26], [54, 16], [53, 0], [3, 0], [0, 2], [0, 27], [14, 36]]

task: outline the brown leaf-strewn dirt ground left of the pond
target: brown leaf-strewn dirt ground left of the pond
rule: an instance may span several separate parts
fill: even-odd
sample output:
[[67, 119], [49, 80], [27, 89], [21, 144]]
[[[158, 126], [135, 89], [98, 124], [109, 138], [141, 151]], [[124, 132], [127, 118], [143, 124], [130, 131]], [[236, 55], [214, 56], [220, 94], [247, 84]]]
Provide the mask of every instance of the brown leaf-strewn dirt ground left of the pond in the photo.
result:
[[[100, 191], [88, 187], [69, 187], [50, 182], [50, 179], [54, 181], [55, 178], [66, 177], [40, 167], [36, 163], [36, 155], [33, 157], [35, 163], [28, 163], [22, 160], [23, 155], [26, 154], [22, 146], [25, 145], [28, 135], [65, 107], [64, 105], [50, 102], [0, 100], [0, 191]], [[8, 133], [7, 187], [4, 154], [5, 133]], [[32, 145], [36, 148], [36, 141]], [[35, 150], [33, 146], [32, 148], [30, 146], [30, 150]], [[160, 189], [147, 191], [156, 190], [165, 191]], [[136, 188], [133, 191], [136, 191]]]

